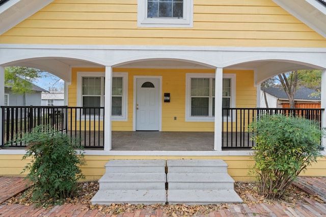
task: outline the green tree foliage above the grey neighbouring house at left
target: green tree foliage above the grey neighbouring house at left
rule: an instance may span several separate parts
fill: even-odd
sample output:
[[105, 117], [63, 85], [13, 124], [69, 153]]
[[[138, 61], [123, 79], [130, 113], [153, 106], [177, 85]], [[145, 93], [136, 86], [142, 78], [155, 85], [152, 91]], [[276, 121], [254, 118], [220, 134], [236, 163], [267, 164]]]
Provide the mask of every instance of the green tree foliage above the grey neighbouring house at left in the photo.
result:
[[42, 77], [42, 70], [28, 67], [6, 67], [5, 85], [10, 86], [15, 94], [32, 92], [32, 82]]

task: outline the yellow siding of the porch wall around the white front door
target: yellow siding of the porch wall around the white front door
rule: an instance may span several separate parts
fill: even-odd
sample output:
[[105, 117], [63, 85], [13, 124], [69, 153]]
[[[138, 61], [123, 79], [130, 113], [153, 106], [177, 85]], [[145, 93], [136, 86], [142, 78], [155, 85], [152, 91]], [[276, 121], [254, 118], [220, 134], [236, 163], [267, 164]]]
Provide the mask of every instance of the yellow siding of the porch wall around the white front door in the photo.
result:
[[[104, 69], [99, 68], [72, 69], [72, 82], [71, 85], [69, 85], [69, 106], [76, 106], [77, 72], [103, 72], [103, 70]], [[164, 92], [170, 92], [171, 95], [170, 103], [162, 102], [162, 131], [214, 131], [214, 122], [185, 121], [185, 75], [186, 73], [215, 73], [215, 70], [117, 68], [113, 69], [113, 71], [128, 73], [128, 119], [127, 121], [112, 121], [112, 130], [133, 130], [133, 77], [162, 76], [162, 94], [164, 94]], [[256, 87], [254, 87], [253, 83], [254, 72], [251, 70], [224, 70], [224, 73], [231, 73], [236, 75], [236, 107], [255, 108]], [[176, 117], [176, 120], [174, 117]], [[91, 124], [93, 125], [93, 123]], [[74, 129], [74, 126], [75, 123], [73, 122], [72, 129]]]

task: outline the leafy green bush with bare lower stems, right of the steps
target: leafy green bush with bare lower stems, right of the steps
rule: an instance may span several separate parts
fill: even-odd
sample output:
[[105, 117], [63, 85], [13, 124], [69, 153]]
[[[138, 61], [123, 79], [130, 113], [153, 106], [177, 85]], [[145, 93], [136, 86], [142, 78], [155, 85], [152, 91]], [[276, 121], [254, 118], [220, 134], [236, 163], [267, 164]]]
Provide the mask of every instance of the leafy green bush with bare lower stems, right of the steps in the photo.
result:
[[281, 198], [296, 176], [321, 156], [324, 131], [308, 119], [264, 115], [252, 122], [249, 130], [256, 142], [251, 172], [266, 198]]

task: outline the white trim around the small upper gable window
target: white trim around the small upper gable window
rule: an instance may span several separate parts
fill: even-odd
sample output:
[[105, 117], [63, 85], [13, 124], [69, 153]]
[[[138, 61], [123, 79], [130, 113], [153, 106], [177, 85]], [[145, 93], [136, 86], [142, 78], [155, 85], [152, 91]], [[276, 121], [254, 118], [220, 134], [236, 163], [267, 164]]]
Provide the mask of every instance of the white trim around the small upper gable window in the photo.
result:
[[193, 27], [194, 1], [183, 2], [183, 19], [147, 18], [147, 0], [138, 0], [138, 27]]

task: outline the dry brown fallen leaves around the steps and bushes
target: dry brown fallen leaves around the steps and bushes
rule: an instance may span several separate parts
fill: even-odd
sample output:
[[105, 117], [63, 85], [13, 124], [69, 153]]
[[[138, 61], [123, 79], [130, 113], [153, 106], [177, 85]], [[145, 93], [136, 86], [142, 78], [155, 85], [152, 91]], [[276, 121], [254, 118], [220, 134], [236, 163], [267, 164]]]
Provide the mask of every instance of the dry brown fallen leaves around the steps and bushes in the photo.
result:
[[[66, 198], [64, 204], [85, 204], [87, 208], [85, 210], [99, 210], [101, 213], [108, 215], [118, 215], [126, 212], [135, 212], [136, 210], [146, 210], [151, 213], [156, 209], [160, 209], [165, 216], [193, 216], [193, 215], [207, 215], [220, 209], [229, 209], [229, 204], [209, 204], [209, 205], [186, 205], [186, 204], [111, 204], [111, 205], [92, 205], [90, 200], [98, 191], [99, 185], [97, 181], [80, 182], [78, 183], [80, 190], [76, 192], [74, 198]], [[282, 200], [266, 200], [260, 196], [257, 191], [256, 184], [254, 182], [235, 182], [234, 190], [243, 200], [243, 203], [252, 206], [257, 203], [275, 204], [280, 203], [287, 206], [296, 206], [297, 201], [305, 202], [305, 198], [309, 198], [315, 201], [321, 201], [318, 197], [309, 195], [308, 193], [294, 187], [292, 185]], [[22, 195], [25, 197], [22, 197]], [[31, 201], [32, 190], [28, 189], [24, 193], [20, 193], [5, 203], [7, 204], [25, 204], [33, 205]], [[322, 202], [322, 201], [321, 201]], [[52, 207], [47, 207], [52, 208]]]

